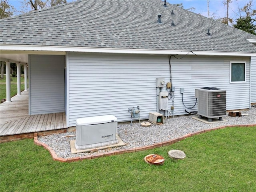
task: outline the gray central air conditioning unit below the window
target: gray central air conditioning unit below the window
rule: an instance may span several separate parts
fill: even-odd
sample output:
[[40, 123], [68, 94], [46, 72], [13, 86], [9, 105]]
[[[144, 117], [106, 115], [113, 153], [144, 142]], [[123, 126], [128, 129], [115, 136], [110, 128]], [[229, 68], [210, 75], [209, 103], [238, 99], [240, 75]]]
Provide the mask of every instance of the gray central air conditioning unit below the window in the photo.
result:
[[226, 90], [216, 87], [203, 87], [195, 89], [195, 96], [198, 98], [198, 115], [207, 117], [211, 122], [212, 118], [226, 116]]

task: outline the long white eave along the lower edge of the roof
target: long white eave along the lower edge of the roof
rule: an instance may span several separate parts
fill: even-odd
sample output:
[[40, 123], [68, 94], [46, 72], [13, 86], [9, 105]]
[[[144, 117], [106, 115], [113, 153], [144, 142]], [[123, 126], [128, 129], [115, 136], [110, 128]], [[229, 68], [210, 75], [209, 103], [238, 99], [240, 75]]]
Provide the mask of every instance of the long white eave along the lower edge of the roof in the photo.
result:
[[[216, 52], [194, 50], [152, 50], [152, 49], [127, 49], [127, 48], [92, 48], [72, 46], [37, 46], [37, 45], [7, 45], [0, 44], [1, 53], [5, 54], [65, 54], [66, 52], [90, 52], [90, 53], [119, 53], [119, 54], [180, 54], [180, 55], [208, 55], [208, 56], [256, 56], [255, 52]], [[59, 52], [59, 53], [56, 53]], [[41, 53], [44, 54], [44, 53]]]

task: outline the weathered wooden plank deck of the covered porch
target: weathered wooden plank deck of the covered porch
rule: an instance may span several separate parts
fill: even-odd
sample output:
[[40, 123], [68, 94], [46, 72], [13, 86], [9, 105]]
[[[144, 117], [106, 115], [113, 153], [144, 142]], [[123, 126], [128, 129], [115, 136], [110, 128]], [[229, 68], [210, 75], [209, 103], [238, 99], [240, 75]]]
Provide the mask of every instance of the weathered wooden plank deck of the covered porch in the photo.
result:
[[0, 136], [67, 128], [64, 112], [28, 115], [28, 92], [11, 100], [0, 104]]

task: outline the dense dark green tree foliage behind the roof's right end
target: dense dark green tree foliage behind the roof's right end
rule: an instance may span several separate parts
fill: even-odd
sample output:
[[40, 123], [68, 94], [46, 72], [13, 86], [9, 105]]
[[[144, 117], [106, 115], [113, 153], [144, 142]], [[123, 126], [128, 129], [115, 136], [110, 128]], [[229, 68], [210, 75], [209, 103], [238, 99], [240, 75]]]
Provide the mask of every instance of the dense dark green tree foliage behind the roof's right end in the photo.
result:
[[240, 30], [256, 35], [256, 25], [253, 24], [254, 21], [255, 19], [252, 19], [250, 16], [240, 17], [236, 20], [236, 24], [233, 26]]

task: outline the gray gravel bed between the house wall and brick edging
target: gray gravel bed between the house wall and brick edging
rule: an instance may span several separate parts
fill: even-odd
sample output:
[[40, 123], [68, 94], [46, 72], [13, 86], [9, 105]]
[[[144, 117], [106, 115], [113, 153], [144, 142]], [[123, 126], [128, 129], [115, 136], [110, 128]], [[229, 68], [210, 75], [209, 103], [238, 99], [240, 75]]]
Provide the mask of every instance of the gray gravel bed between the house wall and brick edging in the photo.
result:
[[[226, 125], [242, 125], [242, 124], [256, 124], [256, 107], [250, 110], [241, 111], [242, 117], [224, 117], [227, 122], [219, 122], [214, 124], [206, 124], [192, 118], [192, 116], [178, 116], [164, 120], [162, 125], [151, 124], [149, 127], [142, 127], [140, 123], [122, 123], [118, 124], [119, 136], [126, 144], [122, 147], [108, 148], [105, 150], [98, 150], [92, 153], [78, 153], [71, 154], [70, 140], [75, 140], [75, 136], [63, 137], [66, 135], [76, 134], [75, 132], [66, 132], [63, 134], [53, 134], [48, 136], [39, 136], [38, 140], [42, 143], [52, 147], [58, 157], [72, 158], [78, 156], [86, 156], [90, 154], [115, 151], [120, 149], [128, 149], [135, 147], [142, 147], [152, 145], [158, 142], [164, 142], [188, 133], [197, 132], [204, 129], [210, 129]], [[143, 121], [141, 121], [143, 122]]]

